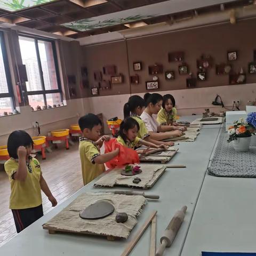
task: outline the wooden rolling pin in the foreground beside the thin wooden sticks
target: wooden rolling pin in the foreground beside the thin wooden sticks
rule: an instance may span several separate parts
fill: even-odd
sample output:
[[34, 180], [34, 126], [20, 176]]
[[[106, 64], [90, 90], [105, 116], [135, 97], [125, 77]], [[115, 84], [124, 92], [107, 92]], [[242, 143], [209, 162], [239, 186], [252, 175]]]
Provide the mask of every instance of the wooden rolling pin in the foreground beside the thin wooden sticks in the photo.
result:
[[164, 253], [165, 247], [170, 247], [172, 245], [174, 238], [179, 231], [181, 223], [184, 220], [186, 211], [187, 211], [187, 206], [185, 205], [181, 208], [181, 210], [175, 212], [169, 225], [165, 229], [163, 236], [160, 238], [161, 244], [156, 251], [156, 256], [162, 256]]

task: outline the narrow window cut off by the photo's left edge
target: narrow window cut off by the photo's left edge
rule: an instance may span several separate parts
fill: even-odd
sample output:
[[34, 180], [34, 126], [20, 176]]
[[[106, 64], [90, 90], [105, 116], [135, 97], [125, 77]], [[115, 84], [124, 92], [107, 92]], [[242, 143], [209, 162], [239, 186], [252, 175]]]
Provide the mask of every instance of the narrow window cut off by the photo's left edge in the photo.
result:
[[0, 115], [14, 110], [12, 82], [9, 71], [4, 34], [0, 31]]

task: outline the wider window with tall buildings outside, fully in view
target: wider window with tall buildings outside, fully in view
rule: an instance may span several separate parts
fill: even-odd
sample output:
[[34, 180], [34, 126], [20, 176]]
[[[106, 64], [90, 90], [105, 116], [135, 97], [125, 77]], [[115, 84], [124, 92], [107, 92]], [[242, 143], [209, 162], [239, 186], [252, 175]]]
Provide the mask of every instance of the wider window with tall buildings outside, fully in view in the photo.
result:
[[63, 101], [54, 41], [49, 39], [19, 36], [23, 65], [26, 65], [26, 82], [29, 105], [60, 105]]

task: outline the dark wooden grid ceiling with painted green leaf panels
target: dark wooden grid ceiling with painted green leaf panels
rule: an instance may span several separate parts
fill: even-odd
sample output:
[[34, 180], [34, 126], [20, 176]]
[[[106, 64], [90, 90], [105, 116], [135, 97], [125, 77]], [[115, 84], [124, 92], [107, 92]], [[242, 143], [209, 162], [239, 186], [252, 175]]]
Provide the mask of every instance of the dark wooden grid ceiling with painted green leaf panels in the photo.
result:
[[0, 23], [71, 38], [168, 24], [254, 0], [0, 0]]

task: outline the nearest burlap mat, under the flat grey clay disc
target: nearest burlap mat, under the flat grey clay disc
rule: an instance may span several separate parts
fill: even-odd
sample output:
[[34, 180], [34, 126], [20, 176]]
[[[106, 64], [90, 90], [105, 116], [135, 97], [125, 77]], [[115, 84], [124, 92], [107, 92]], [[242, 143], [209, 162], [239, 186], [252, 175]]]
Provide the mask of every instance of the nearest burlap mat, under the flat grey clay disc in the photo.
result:
[[[79, 213], [87, 206], [105, 199], [115, 207], [114, 213], [99, 220], [85, 220]], [[146, 204], [143, 196], [116, 195], [112, 193], [84, 193], [78, 196], [60, 213], [47, 221], [43, 226], [51, 229], [65, 230], [71, 233], [92, 233], [97, 235], [127, 238], [137, 223], [136, 216]], [[126, 212], [129, 216], [125, 223], [117, 223], [115, 218], [119, 212]]]

